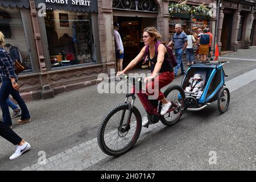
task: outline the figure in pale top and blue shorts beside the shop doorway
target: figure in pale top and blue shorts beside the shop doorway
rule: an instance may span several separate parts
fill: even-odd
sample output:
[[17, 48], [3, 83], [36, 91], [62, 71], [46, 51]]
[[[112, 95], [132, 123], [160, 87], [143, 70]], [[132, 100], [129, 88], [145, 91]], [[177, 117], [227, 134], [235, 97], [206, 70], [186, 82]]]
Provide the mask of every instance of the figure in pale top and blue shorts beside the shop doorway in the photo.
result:
[[115, 57], [117, 58], [117, 72], [123, 71], [123, 42], [118, 32], [119, 23], [114, 23]]

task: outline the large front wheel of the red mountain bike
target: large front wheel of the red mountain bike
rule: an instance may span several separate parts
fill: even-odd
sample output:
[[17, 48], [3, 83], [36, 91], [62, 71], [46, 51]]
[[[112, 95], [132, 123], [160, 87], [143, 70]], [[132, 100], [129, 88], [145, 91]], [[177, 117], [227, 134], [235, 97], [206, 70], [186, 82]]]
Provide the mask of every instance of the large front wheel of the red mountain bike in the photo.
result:
[[102, 119], [98, 129], [98, 145], [101, 150], [111, 156], [119, 156], [129, 151], [141, 134], [142, 119], [134, 106], [130, 121], [129, 104], [114, 107]]

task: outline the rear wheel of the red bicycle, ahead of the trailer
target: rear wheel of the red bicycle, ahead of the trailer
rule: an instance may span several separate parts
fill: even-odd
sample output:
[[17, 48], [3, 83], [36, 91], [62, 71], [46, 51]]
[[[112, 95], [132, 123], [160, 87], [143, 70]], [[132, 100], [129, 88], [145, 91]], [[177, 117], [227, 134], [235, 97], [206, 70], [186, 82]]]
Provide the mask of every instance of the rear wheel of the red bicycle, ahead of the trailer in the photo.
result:
[[160, 121], [166, 126], [171, 126], [177, 123], [183, 114], [181, 109], [184, 108], [185, 93], [181, 86], [173, 85], [167, 88], [164, 97], [171, 102], [173, 110], [161, 117]]

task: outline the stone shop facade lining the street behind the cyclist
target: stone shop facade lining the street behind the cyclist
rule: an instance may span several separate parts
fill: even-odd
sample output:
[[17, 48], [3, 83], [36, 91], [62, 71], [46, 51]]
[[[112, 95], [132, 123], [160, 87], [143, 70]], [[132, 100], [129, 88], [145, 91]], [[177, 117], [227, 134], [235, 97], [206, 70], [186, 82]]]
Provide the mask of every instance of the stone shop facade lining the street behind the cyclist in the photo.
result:
[[[125, 65], [143, 47], [141, 33], [144, 27], [156, 27], [162, 34], [161, 41], [169, 42], [170, 24], [176, 23], [177, 18], [170, 18], [168, 7], [170, 3], [179, 1], [95, 0], [76, 5], [72, 5], [72, 2], [0, 0], [0, 31], [6, 35], [9, 48], [19, 49], [26, 66], [26, 71], [19, 75], [20, 92], [25, 100], [51, 98], [68, 90], [94, 85], [100, 73], [110, 73], [110, 69], [115, 68], [114, 22], [121, 24]], [[254, 2], [239, 2], [230, 0], [222, 3], [222, 26], [218, 28], [220, 47], [225, 40], [226, 30], [229, 30], [228, 35], [232, 35], [228, 39], [230, 49], [248, 48], [256, 44], [256, 5]], [[197, 0], [187, 1], [191, 6], [201, 3]], [[206, 6], [212, 3], [217, 4], [217, 0], [204, 0]], [[225, 21], [229, 21], [231, 16], [232, 25], [236, 26], [226, 28]], [[189, 18], [179, 21], [188, 23], [190, 28], [195, 24]], [[214, 34], [215, 16], [195, 21], [207, 22]], [[242, 36], [238, 40], [240, 27]]]

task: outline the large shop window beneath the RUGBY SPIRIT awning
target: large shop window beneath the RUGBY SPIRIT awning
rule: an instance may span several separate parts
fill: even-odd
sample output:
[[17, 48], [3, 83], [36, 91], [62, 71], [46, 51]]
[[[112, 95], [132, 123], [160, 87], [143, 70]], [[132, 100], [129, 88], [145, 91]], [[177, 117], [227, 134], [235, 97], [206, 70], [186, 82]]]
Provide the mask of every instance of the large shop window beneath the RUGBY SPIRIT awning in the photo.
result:
[[52, 68], [96, 63], [89, 13], [47, 10], [44, 21]]

